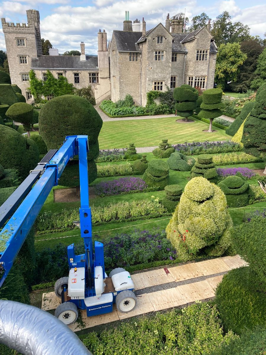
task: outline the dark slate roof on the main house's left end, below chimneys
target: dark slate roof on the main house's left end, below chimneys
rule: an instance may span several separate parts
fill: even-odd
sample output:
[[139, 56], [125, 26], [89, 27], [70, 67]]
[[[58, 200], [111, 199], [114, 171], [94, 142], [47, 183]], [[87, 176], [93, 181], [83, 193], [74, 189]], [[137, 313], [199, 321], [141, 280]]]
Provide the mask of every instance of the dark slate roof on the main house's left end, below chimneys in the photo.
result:
[[127, 32], [127, 31], [113, 31], [115, 36], [116, 46], [118, 52], [136, 52], [140, 51], [139, 46], [136, 45], [142, 32]]

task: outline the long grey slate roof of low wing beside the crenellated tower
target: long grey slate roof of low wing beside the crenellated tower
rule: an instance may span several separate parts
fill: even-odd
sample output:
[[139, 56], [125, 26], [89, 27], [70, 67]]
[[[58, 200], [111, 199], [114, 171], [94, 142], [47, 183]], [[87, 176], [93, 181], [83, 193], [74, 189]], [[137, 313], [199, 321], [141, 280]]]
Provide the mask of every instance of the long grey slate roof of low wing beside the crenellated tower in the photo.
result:
[[79, 55], [42, 55], [32, 58], [31, 69], [89, 69], [99, 70], [98, 56], [86, 55], [81, 61]]

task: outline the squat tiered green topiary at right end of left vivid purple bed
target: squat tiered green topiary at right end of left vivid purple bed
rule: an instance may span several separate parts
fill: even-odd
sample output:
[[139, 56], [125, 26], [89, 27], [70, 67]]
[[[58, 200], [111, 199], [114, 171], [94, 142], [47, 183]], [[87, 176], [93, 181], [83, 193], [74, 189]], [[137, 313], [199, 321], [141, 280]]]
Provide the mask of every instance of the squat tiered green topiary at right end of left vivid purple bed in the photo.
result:
[[143, 174], [143, 180], [149, 187], [154, 186], [163, 190], [170, 182], [168, 164], [161, 159], [151, 160]]

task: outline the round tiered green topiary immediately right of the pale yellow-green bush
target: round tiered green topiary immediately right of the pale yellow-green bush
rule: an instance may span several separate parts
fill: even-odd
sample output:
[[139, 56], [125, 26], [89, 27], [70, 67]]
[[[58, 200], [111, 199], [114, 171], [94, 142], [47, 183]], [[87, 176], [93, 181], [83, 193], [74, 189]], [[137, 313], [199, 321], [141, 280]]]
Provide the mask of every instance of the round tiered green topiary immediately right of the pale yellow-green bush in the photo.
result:
[[225, 193], [229, 207], [246, 206], [254, 196], [248, 182], [239, 176], [227, 176], [227, 178], [219, 182], [218, 186]]

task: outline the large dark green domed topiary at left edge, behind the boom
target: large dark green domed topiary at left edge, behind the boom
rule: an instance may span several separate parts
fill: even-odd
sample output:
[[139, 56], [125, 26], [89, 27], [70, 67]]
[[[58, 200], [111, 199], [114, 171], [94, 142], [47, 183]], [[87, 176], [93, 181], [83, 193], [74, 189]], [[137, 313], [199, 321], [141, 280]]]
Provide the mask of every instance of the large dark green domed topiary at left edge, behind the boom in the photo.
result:
[[4, 142], [0, 149], [0, 164], [5, 169], [17, 169], [21, 178], [26, 178], [39, 162], [37, 144], [3, 125], [0, 125], [0, 142]]

